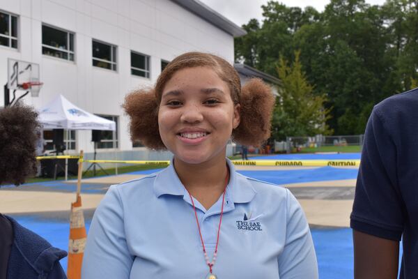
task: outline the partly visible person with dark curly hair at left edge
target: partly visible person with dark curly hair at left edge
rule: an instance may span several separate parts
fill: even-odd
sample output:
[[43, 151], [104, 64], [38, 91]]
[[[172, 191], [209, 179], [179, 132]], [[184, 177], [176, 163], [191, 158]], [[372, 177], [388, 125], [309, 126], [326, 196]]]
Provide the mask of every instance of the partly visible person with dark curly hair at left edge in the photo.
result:
[[[0, 186], [18, 186], [36, 174], [37, 118], [35, 110], [21, 103], [0, 109]], [[0, 279], [66, 278], [59, 264], [66, 255], [0, 213]]]

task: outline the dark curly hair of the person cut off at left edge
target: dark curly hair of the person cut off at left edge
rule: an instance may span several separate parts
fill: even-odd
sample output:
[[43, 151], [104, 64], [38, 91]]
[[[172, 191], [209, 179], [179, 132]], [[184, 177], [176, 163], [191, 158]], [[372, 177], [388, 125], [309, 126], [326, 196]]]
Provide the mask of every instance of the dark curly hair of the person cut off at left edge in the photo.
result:
[[0, 185], [20, 185], [36, 174], [38, 113], [17, 103], [0, 109]]

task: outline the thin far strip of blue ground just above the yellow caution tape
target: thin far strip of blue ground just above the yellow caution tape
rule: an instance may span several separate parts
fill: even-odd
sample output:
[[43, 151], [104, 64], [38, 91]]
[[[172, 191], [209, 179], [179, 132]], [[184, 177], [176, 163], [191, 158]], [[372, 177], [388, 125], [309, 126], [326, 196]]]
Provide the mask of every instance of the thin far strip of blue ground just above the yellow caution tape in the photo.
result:
[[252, 157], [254, 160], [359, 160], [361, 153], [336, 154], [277, 154]]

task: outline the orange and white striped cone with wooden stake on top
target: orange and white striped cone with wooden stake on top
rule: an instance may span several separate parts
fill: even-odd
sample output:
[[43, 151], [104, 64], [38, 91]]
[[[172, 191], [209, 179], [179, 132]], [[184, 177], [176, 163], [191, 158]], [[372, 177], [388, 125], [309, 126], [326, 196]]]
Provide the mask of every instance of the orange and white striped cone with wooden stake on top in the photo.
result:
[[83, 172], [83, 151], [80, 152], [78, 180], [77, 180], [77, 199], [71, 203], [70, 213], [70, 241], [68, 243], [68, 279], [82, 278], [82, 262], [84, 246], [86, 246], [86, 226], [84, 225], [84, 214], [82, 209], [82, 172]]

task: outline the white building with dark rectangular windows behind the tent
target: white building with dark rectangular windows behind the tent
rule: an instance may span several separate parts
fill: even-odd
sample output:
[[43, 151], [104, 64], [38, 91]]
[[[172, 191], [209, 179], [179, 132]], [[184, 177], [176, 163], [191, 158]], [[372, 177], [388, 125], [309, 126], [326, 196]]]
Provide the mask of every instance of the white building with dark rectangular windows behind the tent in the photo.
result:
[[[154, 84], [164, 63], [184, 52], [233, 63], [233, 38], [244, 34], [197, 0], [0, 0], [0, 84], [8, 80], [8, 58], [38, 63], [44, 85], [26, 103], [39, 109], [62, 94], [116, 121], [116, 132], [98, 144], [98, 158], [167, 158], [133, 146], [121, 108], [125, 95]], [[65, 137], [70, 153], [93, 152], [91, 131]], [[49, 139], [52, 132], [45, 133]]]

